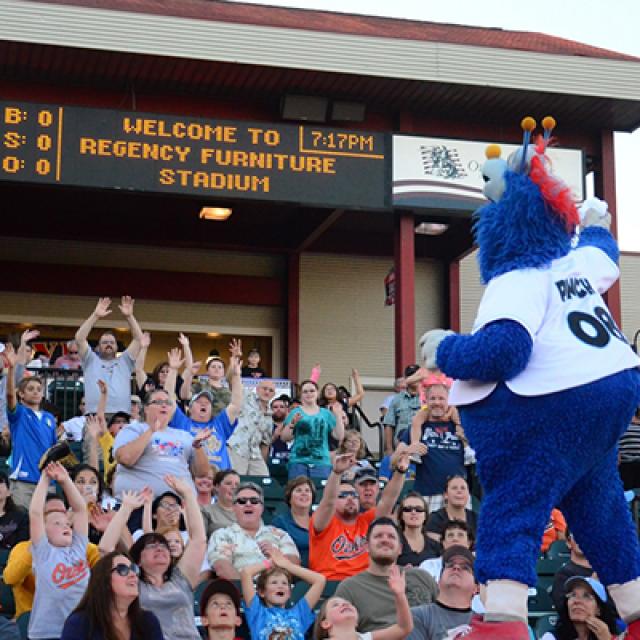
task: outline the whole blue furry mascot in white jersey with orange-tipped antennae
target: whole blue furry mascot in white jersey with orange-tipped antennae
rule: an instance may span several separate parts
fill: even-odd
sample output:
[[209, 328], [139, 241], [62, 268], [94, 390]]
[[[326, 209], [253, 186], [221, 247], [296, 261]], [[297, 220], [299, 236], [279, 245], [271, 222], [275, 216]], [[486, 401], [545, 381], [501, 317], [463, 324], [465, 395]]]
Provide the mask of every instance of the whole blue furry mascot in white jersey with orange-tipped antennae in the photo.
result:
[[456, 380], [450, 402], [485, 491], [477, 576], [486, 613], [466, 637], [528, 638], [527, 586], [558, 507], [627, 637], [640, 639], [640, 547], [616, 459], [640, 404], [640, 360], [601, 297], [619, 276], [618, 247], [606, 203], [578, 212], [552, 175], [553, 118], [535, 145], [535, 121], [522, 126], [523, 147], [505, 161], [491, 145], [483, 165], [491, 202], [476, 212], [474, 233], [488, 286], [472, 333], [447, 335], [435, 352]]

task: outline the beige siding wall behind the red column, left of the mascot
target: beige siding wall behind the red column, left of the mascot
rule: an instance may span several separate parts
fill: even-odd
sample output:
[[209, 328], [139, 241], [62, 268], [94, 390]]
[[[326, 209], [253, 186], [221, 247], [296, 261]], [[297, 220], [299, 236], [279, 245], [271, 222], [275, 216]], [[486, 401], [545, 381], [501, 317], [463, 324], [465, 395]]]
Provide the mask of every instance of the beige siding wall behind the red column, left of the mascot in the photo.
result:
[[[301, 257], [301, 378], [314, 362], [322, 364], [322, 383], [348, 386], [352, 367], [365, 378], [393, 378], [394, 312], [384, 306], [384, 278], [392, 264], [387, 258]], [[416, 263], [416, 340], [444, 321], [442, 282], [439, 264]]]

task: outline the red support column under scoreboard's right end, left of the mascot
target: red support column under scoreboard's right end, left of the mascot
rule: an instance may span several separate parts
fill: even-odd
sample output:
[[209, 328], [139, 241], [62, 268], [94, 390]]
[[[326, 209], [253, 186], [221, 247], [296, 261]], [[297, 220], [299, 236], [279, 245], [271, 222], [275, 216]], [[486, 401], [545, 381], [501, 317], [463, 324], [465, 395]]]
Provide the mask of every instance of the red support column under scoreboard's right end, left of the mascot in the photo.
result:
[[395, 354], [396, 376], [416, 360], [415, 230], [412, 213], [396, 219], [395, 257]]

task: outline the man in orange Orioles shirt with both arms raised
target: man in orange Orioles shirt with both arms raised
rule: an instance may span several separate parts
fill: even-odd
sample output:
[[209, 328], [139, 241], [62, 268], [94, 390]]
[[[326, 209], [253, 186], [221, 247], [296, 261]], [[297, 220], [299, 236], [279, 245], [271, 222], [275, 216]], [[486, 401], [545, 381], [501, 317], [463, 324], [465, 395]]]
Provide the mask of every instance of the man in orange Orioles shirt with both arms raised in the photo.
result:
[[390, 516], [404, 484], [409, 456], [421, 443], [400, 443], [391, 459], [393, 475], [376, 508], [360, 512], [358, 492], [342, 474], [355, 463], [353, 454], [336, 456], [322, 500], [309, 526], [309, 566], [327, 580], [342, 580], [369, 566], [367, 529], [375, 518]]

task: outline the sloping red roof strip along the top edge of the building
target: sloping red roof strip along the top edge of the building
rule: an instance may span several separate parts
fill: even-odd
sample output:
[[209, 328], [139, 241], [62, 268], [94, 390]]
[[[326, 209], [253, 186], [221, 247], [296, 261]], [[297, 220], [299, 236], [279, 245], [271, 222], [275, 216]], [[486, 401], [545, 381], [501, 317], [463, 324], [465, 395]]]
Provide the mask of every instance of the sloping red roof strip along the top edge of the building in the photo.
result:
[[96, 9], [195, 18], [329, 33], [422, 40], [448, 44], [513, 49], [566, 56], [609, 60], [631, 60], [635, 56], [592, 47], [544, 33], [506, 31], [437, 22], [335, 13], [309, 9], [289, 9], [269, 5], [226, 2], [225, 0], [39, 0], [50, 4], [76, 5]]

